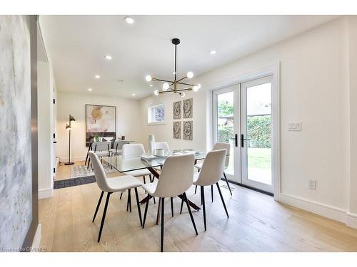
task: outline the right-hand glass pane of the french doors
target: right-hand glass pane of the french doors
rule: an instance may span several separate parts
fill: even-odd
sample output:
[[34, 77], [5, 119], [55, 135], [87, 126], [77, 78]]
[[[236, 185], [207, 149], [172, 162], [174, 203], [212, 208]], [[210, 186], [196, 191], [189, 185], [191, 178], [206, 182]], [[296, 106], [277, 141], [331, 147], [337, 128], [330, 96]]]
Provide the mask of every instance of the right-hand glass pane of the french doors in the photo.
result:
[[246, 90], [247, 178], [271, 185], [271, 83]]

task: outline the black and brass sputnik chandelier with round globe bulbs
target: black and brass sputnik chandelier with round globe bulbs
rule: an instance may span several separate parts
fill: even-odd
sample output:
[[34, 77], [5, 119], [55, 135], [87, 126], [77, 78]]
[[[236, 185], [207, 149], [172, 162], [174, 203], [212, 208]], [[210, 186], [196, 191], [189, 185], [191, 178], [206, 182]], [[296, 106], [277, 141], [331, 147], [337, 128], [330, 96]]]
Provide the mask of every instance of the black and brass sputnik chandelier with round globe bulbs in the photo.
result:
[[[183, 78], [177, 80], [176, 75], [177, 75], [177, 62], [176, 62], [176, 57], [177, 57], [177, 45], [180, 43], [180, 39], [178, 38], [174, 38], [172, 39], [172, 43], [175, 45], [175, 70], [174, 70], [174, 75], [175, 78], [174, 80], [162, 80], [162, 79], [158, 79], [158, 78], [154, 78], [151, 77], [151, 75], [146, 75], [145, 80], [147, 82], [151, 82], [151, 80], [158, 80], [160, 82], [164, 82], [164, 84], [162, 85], [162, 91], [160, 90], [155, 90], [154, 91], [154, 95], [159, 95], [161, 93], [178, 93], [179, 95], [181, 95], [181, 97], [185, 96], [185, 91], [193, 91], [193, 92], [197, 92], [199, 88], [201, 88], [201, 85], [199, 83], [195, 84], [191, 84], [191, 83], [183, 83], [183, 80], [188, 78], [191, 79], [193, 78], [193, 72], [192, 71], [188, 71], [188, 73], [186, 74], [186, 76], [184, 76]], [[178, 85], [180, 87], [183, 88], [178, 88]]]

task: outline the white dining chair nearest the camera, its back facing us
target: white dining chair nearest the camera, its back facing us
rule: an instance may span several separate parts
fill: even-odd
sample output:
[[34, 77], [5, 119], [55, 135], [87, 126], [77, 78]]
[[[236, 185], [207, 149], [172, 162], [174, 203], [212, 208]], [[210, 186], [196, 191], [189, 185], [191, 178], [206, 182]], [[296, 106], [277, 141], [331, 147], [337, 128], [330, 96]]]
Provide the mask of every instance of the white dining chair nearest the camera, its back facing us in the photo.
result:
[[[192, 216], [190, 205], [186, 197], [186, 190], [192, 185], [194, 155], [169, 156], [165, 160], [161, 169], [160, 178], [152, 183], [144, 184], [143, 188], [148, 192], [150, 197], [159, 197], [161, 202], [161, 252], [164, 251], [164, 204], [165, 198], [183, 195], [188, 212], [191, 217], [193, 228], [196, 235], [196, 224]], [[149, 201], [146, 202], [143, 228], [145, 226], [146, 214], [148, 211]]]

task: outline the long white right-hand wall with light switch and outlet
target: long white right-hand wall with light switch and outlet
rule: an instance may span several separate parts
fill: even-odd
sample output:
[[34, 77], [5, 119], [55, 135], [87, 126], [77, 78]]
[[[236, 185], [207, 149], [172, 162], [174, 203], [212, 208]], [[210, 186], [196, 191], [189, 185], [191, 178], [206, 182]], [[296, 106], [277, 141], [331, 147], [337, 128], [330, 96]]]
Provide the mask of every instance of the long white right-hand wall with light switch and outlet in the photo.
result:
[[[205, 90], [280, 62], [280, 200], [344, 222], [350, 205], [346, 25], [344, 17], [331, 21], [196, 78]], [[199, 115], [194, 116], [203, 121], [209, 114], [203, 115], [207, 99], [200, 94], [194, 98], [199, 106]], [[174, 101], [169, 96], [146, 98], [141, 101], [142, 112], [149, 103], [159, 103], [159, 99], [169, 107]], [[301, 121], [303, 130], [288, 132], [289, 121]], [[193, 127], [198, 137], [193, 146], [201, 148], [209, 143], [206, 132], [211, 127], [198, 123], [200, 127]], [[148, 133], [170, 138], [171, 123], [146, 126], [145, 134]], [[172, 137], [170, 142], [175, 145]], [[308, 179], [317, 180], [317, 190], [308, 189]], [[357, 195], [355, 189], [353, 192]]]

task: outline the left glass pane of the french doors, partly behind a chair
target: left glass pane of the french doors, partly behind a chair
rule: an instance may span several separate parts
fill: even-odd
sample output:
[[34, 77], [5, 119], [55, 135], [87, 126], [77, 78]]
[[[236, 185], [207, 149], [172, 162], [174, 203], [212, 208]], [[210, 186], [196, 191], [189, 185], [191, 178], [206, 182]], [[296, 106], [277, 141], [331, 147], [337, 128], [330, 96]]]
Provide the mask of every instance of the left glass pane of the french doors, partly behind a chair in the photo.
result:
[[217, 95], [217, 142], [229, 142], [229, 165], [226, 174], [234, 175], [234, 93], [221, 93]]

